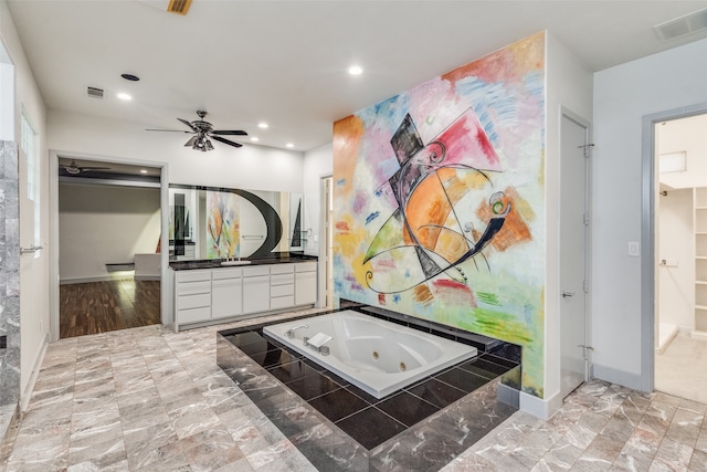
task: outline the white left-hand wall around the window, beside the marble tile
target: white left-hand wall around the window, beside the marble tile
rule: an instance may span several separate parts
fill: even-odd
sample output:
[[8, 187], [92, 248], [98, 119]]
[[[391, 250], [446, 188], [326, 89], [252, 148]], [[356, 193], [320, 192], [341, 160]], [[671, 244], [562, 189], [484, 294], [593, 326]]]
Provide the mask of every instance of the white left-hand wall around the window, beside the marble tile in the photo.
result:
[[[27, 62], [27, 56], [20, 43], [17, 30], [7, 2], [0, 0], [0, 40], [6, 46], [12, 63], [14, 64], [14, 140], [19, 140], [21, 113], [24, 113], [34, 126], [39, 136], [39, 149], [41, 156], [46, 156], [46, 117], [44, 103]], [[3, 115], [4, 116], [4, 115]], [[41, 241], [49, 240], [49, 166], [43, 162], [41, 175]], [[21, 179], [22, 180], [22, 177]], [[24, 177], [27, 181], [27, 177]], [[19, 191], [27, 192], [27, 183]], [[22, 211], [22, 209], [20, 209]], [[24, 216], [20, 213], [20, 224]], [[20, 230], [21, 243], [33, 239], [31, 234], [23, 234]], [[51, 250], [51, 249], [50, 249]], [[39, 258], [21, 259], [20, 269], [20, 388], [22, 402], [29, 399], [32, 373], [41, 360], [42, 349], [49, 334], [49, 251], [40, 251]]]

